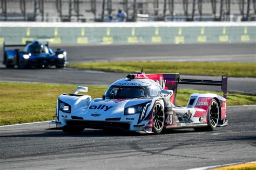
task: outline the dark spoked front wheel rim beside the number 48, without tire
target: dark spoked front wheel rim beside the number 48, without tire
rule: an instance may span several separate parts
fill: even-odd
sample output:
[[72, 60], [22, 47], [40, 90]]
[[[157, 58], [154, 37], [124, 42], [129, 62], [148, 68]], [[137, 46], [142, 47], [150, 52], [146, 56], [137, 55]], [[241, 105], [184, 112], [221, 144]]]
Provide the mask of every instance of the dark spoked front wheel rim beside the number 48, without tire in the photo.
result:
[[156, 130], [161, 130], [164, 126], [164, 111], [160, 104], [154, 107], [153, 124]]

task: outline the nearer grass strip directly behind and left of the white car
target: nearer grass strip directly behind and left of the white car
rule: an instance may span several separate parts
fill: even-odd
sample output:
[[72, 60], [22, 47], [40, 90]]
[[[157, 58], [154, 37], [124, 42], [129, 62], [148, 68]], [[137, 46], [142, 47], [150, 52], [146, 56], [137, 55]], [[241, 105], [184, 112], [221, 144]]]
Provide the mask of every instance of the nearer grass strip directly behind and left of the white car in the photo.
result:
[[[60, 94], [72, 93], [76, 85], [0, 83], [0, 125], [49, 121], [55, 119]], [[107, 87], [90, 86], [87, 95], [102, 97]], [[212, 91], [178, 90], [178, 105], [186, 106], [192, 93]], [[221, 95], [221, 93], [218, 93]], [[228, 94], [227, 105], [255, 104], [256, 96]]]

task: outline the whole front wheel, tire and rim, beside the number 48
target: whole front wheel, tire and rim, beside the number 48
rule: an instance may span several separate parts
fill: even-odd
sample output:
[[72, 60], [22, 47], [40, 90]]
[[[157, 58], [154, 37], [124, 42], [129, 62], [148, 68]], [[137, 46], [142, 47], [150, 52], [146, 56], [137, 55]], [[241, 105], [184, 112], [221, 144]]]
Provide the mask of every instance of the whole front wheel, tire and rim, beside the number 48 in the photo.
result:
[[164, 128], [164, 120], [165, 120], [165, 115], [164, 115], [164, 108], [161, 105], [159, 101], [154, 104], [154, 110], [153, 110], [153, 127], [152, 127], [152, 132], [154, 134], [159, 134]]

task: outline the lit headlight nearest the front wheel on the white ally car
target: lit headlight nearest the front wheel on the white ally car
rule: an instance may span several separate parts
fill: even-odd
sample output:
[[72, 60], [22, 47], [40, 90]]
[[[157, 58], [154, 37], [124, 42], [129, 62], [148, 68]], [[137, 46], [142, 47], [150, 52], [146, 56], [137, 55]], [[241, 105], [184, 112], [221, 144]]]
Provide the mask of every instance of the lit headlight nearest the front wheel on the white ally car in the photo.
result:
[[150, 102], [133, 105], [124, 109], [124, 115], [134, 115], [134, 114], [143, 114], [146, 112], [147, 108], [151, 104]]

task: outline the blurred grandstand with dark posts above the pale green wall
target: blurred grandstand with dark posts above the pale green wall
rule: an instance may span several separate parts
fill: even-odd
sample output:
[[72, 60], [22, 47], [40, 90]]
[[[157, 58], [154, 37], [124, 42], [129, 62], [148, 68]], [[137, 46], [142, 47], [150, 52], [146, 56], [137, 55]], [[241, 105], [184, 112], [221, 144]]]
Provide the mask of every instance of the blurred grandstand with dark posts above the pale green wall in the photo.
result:
[[256, 0], [0, 0], [0, 21], [126, 22], [256, 20]]

